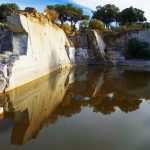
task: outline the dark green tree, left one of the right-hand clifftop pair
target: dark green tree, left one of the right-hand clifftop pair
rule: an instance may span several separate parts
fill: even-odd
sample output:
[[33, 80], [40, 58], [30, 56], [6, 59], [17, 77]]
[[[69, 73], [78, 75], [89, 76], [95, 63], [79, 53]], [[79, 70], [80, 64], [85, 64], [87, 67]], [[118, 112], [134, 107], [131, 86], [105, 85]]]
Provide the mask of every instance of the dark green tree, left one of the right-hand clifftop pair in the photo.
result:
[[119, 12], [119, 8], [112, 4], [107, 4], [103, 7], [97, 6], [96, 11], [93, 11], [92, 19], [98, 19], [104, 22], [108, 28], [111, 22], [117, 21]]

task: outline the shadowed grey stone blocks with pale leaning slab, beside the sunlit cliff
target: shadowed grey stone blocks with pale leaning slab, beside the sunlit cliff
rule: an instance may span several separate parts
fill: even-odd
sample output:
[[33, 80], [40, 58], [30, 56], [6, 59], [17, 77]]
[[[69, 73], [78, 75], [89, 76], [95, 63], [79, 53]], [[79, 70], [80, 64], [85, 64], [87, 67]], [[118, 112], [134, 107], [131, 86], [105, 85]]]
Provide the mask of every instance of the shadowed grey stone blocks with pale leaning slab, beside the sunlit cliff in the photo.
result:
[[79, 35], [71, 36], [76, 47], [75, 62], [78, 65], [95, 65], [105, 63], [105, 43], [101, 34], [95, 30], [87, 30]]

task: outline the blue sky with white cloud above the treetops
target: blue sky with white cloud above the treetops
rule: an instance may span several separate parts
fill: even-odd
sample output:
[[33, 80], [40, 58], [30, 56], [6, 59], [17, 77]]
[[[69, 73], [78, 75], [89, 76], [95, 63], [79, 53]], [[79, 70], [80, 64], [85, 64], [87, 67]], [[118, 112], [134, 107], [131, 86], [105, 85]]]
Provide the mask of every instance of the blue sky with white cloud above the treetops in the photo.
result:
[[0, 0], [0, 3], [17, 3], [21, 9], [30, 6], [39, 11], [48, 4], [73, 3], [76, 6], [83, 7], [85, 14], [90, 14], [98, 5], [115, 4], [121, 10], [133, 6], [145, 11], [145, 16], [150, 21], [150, 0]]

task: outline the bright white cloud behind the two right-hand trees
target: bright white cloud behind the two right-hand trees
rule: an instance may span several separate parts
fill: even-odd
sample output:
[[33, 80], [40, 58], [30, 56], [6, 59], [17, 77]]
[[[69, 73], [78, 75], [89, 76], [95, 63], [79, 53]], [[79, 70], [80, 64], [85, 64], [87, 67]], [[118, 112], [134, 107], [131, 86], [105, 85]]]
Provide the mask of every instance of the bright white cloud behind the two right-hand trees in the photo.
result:
[[130, 6], [142, 9], [145, 11], [146, 18], [150, 21], [150, 0], [71, 0], [78, 5], [95, 9], [98, 5], [115, 4], [121, 10]]

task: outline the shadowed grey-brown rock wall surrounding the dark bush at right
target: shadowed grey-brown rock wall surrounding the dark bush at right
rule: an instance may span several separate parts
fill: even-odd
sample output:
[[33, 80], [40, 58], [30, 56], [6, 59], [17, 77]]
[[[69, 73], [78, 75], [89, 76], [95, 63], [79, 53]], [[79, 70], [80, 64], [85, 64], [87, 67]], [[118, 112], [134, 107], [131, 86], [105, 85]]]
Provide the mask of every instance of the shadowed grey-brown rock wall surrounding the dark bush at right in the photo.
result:
[[[110, 31], [104, 33], [104, 41], [106, 43], [106, 64], [113, 65], [129, 65], [129, 66], [150, 66], [148, 61], [129, 60], [128, 42], [130, 39], [136, 38], [140, 41], [150, 44], [149, 29], [133, 29], [128, 31]], [[126, 58], [126, 60], [125, 60]]]

